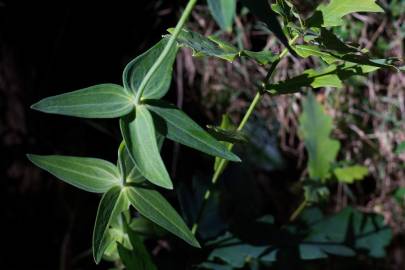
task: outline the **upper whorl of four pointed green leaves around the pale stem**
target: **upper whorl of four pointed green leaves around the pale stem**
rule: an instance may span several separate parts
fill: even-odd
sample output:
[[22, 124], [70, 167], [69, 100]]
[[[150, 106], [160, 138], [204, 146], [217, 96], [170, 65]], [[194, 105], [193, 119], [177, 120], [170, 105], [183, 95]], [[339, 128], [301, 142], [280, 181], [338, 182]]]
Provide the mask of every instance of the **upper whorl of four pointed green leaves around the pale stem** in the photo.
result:
[[[120, 117], [122, 136], [138, 171], [150, 182], [164, 188], [172, 189], [173, 184], [158, 150], [156, 136], [159, 134], [156, 128], [160, 129], [160, 135], [204, 153], [240, 161], [180, 110], [164, 103], [157, 104], [170, 87], [177, 46], [170, 48], [165, 61], [145, 85], [141, 103], [135, 101], [142, 80], [167, 44], [168, 38], [163, 38], [131, 61], [123, 72], [124, 87], [115, 84], [96, 85], [43, 99], [32, 108], [76, 117]], [[148, 106], [142, 104], [147, 99], [155, 101], [151, 100], [153, 104]], [[150, 109], [154, 115], [161, 114], [159, 119], [164, 121], [159, 122], [159, 127], [155, 127], [158, 117], [152, 117]]]

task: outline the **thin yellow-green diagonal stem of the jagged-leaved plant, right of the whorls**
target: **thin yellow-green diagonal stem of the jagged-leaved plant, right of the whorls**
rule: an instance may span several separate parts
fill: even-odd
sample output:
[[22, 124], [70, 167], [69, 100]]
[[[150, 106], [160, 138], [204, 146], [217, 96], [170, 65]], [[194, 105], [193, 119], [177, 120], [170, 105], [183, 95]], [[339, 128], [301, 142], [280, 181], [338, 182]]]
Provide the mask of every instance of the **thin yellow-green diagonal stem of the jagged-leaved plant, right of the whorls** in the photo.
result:
[[[295, 36], [293, 39], [291, 39], [290, 44], [291, 44], [291, 45], [294, 44], [294, 43], [297, 41], [297, 39], [298, 39], [298, 35]], [[256, 95], [255, 95], [255, 97], [254, 97], [254, 99], [253, 99], [253, 101], [252, 101], [252, 103], [250, 103], [248, 110], [246, 111], [245, 115], [243, 116], [242, 121], [240, 122], [238, 128], [236, 129], [237, 131], [242, 131], [243, 128], [245, 127], [247, 121], [248, 121], [249, 118], [252, 116], [252, 114], [253, 114], [253, 112], [254, 112], [254, 110], [255, 110], [257, 104], [258, 104], [259, 101], [260, 101], [260, 98], [261, 98], [262, 95], [263, 95], [263, 92], [264, 92], [264, 89], [265, 89], [266, 84], [267, 84], [268, 81], [272, 78], [272, 76], [273, 76], [273, 74], [274, 74], [274, 71], [276, 70], [276, 67], [277, 67], [278, 63], [279, 63], [280, 60], [281, 60], [282, 58], [284, 58], [287, 54], [288, 54], [288, 48], [285, 48], [285, 49], [280, 53], [280, 55], [278, 56], [278, 59], [275, 60], [275, 61], [272, 63], [272, 65], [270, 66], [269, 71], [268, 71], [268, 73], [267, 73], [267, 75], [266, 75], [266, 78], [263, 80], [261, 86], [259, 87], [259, 89], [258, 89], [258, 91], [257, 91], [257, 93], [256, 93]], [[234, 144], [229, 144], [228, 150], [232, 150], [233, 146], [234, 146]], [[191, 232], [192, 232], [194, 235], [197, 233], [198, 224], [199, 224], [200, 221], [201, 221], [201, 218], [202, 218], [202, 215], [203, 215], [203, 213], [204, 213], [204, 210], [205, 210], [205, 208], [206, 208], [206, 206], [207, 206], [208, 200], [209, 200], [210, 197], [211, 197], [212, 189], [214, 188], [215, 184], [217, 183], [219, 177], [222, 175], [222, 173], [223, 173], [223, 171], [225, 170], [227, 164], [228, 164], [228, 160], [221, 159], [220, 162], [219, 162], [219, 164], [218, 164], [218, 167], [217, 167], [216, 170], [214, 171], [214, 175], [212, 176], [211, 184], [210, 184], [210, 186], [208, 187], [207, 191], [206, 191], [205, 194], [204, 194], [204, 199], [203, 199], [203, 201], [202, 201], [202, 203], [201, 203], [201, 206], [200, 206], [200, 208], [199, 208], [199, 211], [198, 211], [198, 213], [197, 213], [197, 218], [196, 218], [196, 220], [195, 220], [195, 222], [194, 222], [194, 224], [193, 224], [193, 227], [191, 228]]]

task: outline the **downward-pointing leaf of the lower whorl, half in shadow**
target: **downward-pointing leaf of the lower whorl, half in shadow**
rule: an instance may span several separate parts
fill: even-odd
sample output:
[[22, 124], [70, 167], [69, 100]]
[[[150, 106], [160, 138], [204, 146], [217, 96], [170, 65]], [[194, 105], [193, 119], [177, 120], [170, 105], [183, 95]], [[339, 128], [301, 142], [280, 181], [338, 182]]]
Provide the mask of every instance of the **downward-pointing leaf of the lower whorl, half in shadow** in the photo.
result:
[[101, 198], [93, 231], [93, 257], [98, 264], [110, 241], [107, 237], [112, 220], [128, 209], [128, 201], [120, 186], [109, 189]]

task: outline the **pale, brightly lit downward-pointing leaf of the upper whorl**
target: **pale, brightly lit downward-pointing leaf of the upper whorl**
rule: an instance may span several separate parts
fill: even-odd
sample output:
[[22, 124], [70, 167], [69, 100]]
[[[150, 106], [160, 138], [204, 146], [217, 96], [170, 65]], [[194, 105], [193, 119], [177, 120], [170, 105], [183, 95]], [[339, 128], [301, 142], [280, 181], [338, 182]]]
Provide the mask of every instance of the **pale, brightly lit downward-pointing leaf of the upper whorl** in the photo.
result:
[[173, 184], [156, 142], [153, 119], [145, 105], [120, 120], [121, 133], [136, 167], [155, 185], [172, 189]]

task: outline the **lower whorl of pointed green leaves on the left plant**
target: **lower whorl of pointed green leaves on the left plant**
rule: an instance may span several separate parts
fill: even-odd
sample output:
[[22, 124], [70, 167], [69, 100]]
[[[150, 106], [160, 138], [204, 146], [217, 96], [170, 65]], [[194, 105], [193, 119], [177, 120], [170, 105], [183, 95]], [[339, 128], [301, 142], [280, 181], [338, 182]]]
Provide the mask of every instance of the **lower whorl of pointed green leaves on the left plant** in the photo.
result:
[[[121, 147], [122, 149], [122, 147]], [[125, 150], [125, 149], [124, 149]], [[131, 181], [135, 164], [121, 152], [119, 166], [126, 167], [127, 184], [124, 177], [113, 164], [94, 158], [38, 156], [28, 155], [28, 158], [40, 168], [73, 186], [86, 191], [104, 193], [97, 211], [93, 233], [93, 255], [96, 262], [100, 262], [105, 250], [110, 244], [108, 230], [119, 214], [132, 205], [141, 215], [163, 227], [167, 231], [180, 237], [192, 246], [199, 244], [187, 225], [175, 209], [149, 186]], [[124, 165], [123, 160], [126, 160]], [[131, 173], [132, 172], [132, 173]]]

